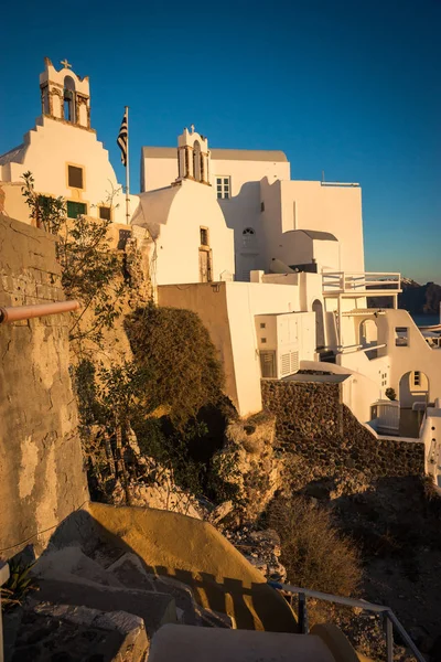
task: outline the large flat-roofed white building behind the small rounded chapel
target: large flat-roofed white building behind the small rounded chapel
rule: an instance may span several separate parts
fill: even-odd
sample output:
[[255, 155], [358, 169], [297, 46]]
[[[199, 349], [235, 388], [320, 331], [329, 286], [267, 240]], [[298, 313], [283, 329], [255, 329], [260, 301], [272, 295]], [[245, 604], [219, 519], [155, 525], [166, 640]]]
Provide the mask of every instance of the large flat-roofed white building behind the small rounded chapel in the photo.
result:
[[[174, 149], [142, 149], [142, 191], [178, 173]], [[211, 150], [206, 178], [235, 233], [236, 280], [249, 280], [254, 269], [269, 271], [273, 259], [315, 273], [364, 270], [358, 184], [291, 181], [283, 152], [239, 149]]]

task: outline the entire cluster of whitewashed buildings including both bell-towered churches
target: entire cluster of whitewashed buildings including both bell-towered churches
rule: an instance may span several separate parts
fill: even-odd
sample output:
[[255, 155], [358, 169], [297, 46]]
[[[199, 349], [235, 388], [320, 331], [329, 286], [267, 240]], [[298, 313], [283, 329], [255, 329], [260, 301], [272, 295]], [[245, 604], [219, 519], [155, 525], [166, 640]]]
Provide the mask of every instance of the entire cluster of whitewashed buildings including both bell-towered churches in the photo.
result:
[[[90, 128], [88, 78], [62, 65], [45, 61], [42, 115], [0, 157], [0, 213], [30, 223], [21, 177], [31, 171], [39, 193], [65, 197], [68, 216], [110, 218], [115, 236], [139, 237], [158, 303], [198, 313], [241, 416], [261, 409], [262, 378], [332, 373], [316, 378], [338, 380], [358, 420], [422, 438], [428, 471], [441, 472], [441, 349], [398, 309], [400, 275], [365, 271], [359, 184], [292, 181], [283, 152], [209, 149], [192, 126], [175, 148], [142, 149], [127, 218]], [[373, 295], [391, 308], [368, 308]]]

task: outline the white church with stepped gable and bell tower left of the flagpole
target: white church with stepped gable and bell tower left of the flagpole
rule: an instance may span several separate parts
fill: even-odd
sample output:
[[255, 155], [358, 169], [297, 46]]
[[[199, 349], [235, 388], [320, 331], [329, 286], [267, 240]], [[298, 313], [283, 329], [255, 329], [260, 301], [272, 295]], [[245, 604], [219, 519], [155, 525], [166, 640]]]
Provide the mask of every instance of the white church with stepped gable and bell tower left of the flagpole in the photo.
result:
[[42, 115], [19, 147], [0, 156], [0, 212], [30, 223], [21, 194], [21, 178], [30, 171], [37, 193], [66, 200], [69, 217], [84, 214], [126, 224], [122, 188], [90, 127], [89, 79], [77, 76], [67, 62], [62, 64], [57, 71], [45, 58], [40, 75]]

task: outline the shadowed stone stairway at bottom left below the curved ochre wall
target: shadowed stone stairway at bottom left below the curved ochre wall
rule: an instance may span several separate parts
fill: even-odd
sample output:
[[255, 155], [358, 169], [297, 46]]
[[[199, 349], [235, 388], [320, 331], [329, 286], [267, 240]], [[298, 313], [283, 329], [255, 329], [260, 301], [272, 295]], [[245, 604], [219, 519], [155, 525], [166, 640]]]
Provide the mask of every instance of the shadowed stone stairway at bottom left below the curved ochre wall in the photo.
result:
[[144, 662], [165, 623], [234, 627], [200, 607], [185, 584], [149, 574], [132, 553], [100, 549], [92, 558], [68, 546], [45, 553], [32, 574], [39, 591], [4, 618], [6, 662]]

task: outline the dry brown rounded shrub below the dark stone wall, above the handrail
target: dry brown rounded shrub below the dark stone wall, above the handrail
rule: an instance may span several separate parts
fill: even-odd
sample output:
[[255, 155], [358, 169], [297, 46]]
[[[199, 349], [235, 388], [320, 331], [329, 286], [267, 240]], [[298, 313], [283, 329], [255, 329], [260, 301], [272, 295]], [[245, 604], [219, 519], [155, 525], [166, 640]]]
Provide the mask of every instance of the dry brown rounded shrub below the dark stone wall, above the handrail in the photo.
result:
[[340, 596], [356, 592], [362, 579], [358, 553], [333, 525], [329, 511], [304, 496], [273, 502], [270, 526], [280, 535], [281, 562], [295, 586]]

